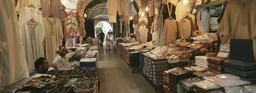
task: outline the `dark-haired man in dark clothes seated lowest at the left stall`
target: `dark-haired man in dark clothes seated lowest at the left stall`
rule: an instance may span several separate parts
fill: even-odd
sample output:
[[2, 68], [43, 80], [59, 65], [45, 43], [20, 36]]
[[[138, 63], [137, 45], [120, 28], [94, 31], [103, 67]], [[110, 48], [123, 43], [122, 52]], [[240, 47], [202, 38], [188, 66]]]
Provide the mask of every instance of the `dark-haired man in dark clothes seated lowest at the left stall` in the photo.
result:
[[35, 69], [29, 73], [29, 77], [36, 75], [37, 73], [46, 74], [49, 67], [55, 68], [55, 71], [58, 72], [58, 67], [56, 64], [52, 63], [49, 65], [49, 62], [45, 58], [38, 58], [35, 62]]

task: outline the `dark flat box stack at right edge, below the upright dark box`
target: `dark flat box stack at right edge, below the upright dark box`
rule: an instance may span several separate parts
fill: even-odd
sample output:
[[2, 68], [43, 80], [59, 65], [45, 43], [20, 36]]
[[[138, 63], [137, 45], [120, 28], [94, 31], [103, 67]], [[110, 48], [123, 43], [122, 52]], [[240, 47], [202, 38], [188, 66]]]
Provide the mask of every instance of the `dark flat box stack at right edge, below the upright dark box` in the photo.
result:
[[229, 59], [224, 61], [224, 71], [256, 83], [256, 63]]

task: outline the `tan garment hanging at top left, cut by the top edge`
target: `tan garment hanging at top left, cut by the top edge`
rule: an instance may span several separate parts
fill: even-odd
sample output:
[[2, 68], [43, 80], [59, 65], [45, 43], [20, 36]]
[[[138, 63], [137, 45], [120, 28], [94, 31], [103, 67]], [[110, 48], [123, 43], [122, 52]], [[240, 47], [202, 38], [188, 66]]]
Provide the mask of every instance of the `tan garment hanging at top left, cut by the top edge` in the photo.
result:
[[47, 17], [52, 14], [54, 17], [59, 18], [61, 21], [65, 20], [61, 16], [61, 10], [63, 10], [63, 7], [60, 1], [40, 0], [39, 9], [42, 9], [43, 17]]

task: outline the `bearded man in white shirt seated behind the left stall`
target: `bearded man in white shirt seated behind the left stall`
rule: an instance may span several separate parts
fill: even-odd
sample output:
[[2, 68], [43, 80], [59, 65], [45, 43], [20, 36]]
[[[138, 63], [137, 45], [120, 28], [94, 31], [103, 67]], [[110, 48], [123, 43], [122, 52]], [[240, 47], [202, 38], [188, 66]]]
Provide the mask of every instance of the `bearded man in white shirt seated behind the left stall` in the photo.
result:
[[53, 61], [53, 63], [57, 64], [57, 67], [59, 70], [70, 70], [71, 66], [70, 66], [68, 59], [71, 58], [76, 53], [81, 53], [81, 51], [76, 51], [76, 52], [71, 52], [71, 53], [66, 54], [67, 51], [68, 50], [65, 46], [60, 46], [59, 54]]

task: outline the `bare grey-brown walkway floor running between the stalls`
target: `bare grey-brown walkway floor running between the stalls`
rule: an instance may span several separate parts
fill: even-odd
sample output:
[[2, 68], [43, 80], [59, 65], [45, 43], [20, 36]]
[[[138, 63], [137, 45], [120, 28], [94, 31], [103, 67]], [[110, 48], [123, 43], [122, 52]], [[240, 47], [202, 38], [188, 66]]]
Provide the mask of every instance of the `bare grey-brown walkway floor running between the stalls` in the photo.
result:
[[131, 73], [124, 61], [113, 50], [112, 45], [111, 51], [105, 51], [105, 47], [106, 45], [99, 47], [98, 72], [101, 92], [155, 92], [139, 72]]

